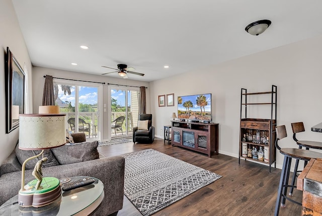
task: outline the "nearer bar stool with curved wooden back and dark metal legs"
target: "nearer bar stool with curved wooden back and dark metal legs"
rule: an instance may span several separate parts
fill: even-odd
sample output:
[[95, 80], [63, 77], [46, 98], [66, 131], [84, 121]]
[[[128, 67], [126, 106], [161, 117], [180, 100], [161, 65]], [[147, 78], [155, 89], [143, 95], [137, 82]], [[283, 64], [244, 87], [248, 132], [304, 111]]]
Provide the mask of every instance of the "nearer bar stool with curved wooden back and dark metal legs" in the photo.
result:
[[302, 203], [287, 197], [287, 188], [296, 187], [294, 184], [288, 185], [292, 159], [294, 158], [297, 160], [309, 161], [312, 158], [314, 159], [322, 158], [322, 153], [318, 153], [318, 152], [308, 151], [304, 149], [295, 149], [295, 148], [280, 148], [278, 146], [278, 140], [285, 137], [287, 137], [285, 125], [276, 126], [275, 147], [280, 151], [282, 155], [284, 155], [284, 162], [283, 162], [281, 178], [278, 186], [277, 200], [276, 200], [275, 213], [274, 213], [275, 216], [278, 215], [280, 206], [285, 207], [286, 199], [298, 205], [302, 205]]

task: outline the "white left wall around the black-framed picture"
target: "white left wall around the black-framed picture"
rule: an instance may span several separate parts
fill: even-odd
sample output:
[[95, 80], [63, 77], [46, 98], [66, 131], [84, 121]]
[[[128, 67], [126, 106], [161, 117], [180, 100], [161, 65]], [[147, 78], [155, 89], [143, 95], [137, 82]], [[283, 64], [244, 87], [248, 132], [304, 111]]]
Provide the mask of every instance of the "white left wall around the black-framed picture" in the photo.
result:
[[[20, 31], [16, 12], [13, 8], [11, 0], [0, 1], [0, 164], [10, 155], [15, 148], [19, 137], [19, 128], [11, 133], [6, 133], [6, 91], [5, 91], [5, 53], [7, 46], [17, 58], [20, 65], [28, 70], [28, 76], [31, 78], [31, 62], [26, 48], [26, 44]], [[29, 80], [31, 88], [31, 79]], [[32, 99], [32, 98], [31, 98]], [[32, 104], [29, 106], [32, 109]]]

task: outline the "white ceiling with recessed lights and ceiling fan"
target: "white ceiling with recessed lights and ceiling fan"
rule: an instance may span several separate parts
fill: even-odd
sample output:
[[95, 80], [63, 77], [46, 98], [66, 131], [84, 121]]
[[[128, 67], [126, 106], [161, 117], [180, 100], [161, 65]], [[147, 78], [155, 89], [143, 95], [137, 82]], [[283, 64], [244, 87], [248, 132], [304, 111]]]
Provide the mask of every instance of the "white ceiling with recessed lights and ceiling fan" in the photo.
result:
[[[13, 0], [13, 4], [33, 65], [101, 75], [113, 71], [101, 65], [117, 68], [124, 63], [145, 74], [128, 75], [140, 81], [202, 71], [322, 34], [320, 0]], [[262, 19], [272, 21], [263, 34], [245, 31], [248, 24]]]

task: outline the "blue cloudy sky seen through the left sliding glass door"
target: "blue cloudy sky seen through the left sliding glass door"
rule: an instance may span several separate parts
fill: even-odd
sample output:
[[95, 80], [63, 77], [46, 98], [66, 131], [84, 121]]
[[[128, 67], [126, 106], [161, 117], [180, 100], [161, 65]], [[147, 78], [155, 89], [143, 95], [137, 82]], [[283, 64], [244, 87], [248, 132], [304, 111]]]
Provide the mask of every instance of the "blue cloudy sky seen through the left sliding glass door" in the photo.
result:
[[[58, 85], [59, 91], [58, 91], [58, 98], [62, 102], [71, 102], [72, 106], [75, 106], [75, 87], [71, 87], [71, 95], [64, 95], [63, 91], [60, 88], [60, 85]], [[78, 87], [79, 93], [78, 93], [78, 101], [82, 104], [97, 104], [98, 101], [98, 88], [97, 87]]]

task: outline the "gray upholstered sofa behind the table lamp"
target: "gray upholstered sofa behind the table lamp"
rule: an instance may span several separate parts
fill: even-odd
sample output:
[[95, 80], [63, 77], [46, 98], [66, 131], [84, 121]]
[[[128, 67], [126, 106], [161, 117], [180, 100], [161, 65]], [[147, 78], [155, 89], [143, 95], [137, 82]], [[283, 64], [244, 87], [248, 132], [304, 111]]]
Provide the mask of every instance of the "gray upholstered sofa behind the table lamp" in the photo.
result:
[[[76, 135], [72, 134], [73, 137]], [[81, 134], [83, 137], [83, 134]], [[75, 142], [79, 141], [77, 138]], [[58, 179], [73, 176], [91, 176], [100, 179], [104, 184], [104, 199], [94, 215], [116, 215], [123, 207], [124, 195], [124, 158], [115, 156], [98, 158], [98, 142], [83, 142], [79, 145], [63, 146], [46, 150], [49, 157], [55, 160], [42, 168], [44, 176]], [[96, 146], [96, 148], [95, 148]], [[92, 148], [89, 150], [88, 148]], [[21, 187], [21, 152], [16, 148], [0, 167], [0, 205], [18, 194]], [[83, 152], [82, 152], [83, 151]], [[32, 151], [23, 151], [32, 152]], [[18, 154], [18, 157], [17, 157]], [[69, 159], [69, 161], [66, 160]], [[93, 159], [93, 160], [92, 160]], [[48, 160], [49, 161], [49, 160]], [[28, 162], [29, 163], [29, 162]], [[27, 169], [27, 167], [26, 167]], [[25, 171], [25, 182], [34, 179], [33, 169]]]

